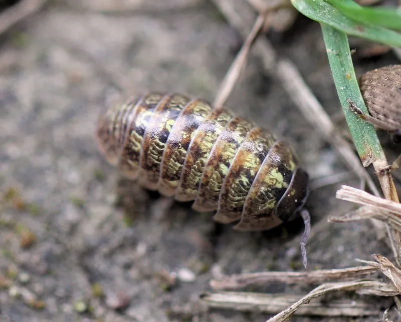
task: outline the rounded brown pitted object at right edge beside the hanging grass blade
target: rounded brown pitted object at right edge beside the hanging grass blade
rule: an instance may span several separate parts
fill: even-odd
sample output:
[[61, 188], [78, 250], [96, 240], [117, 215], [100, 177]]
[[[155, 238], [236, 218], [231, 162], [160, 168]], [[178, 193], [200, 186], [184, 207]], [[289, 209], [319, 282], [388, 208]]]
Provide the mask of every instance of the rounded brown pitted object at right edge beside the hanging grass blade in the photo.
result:
[[401, 65], [366, 72], [360, 89], [369, 113], [394, 130], [401, 129]]

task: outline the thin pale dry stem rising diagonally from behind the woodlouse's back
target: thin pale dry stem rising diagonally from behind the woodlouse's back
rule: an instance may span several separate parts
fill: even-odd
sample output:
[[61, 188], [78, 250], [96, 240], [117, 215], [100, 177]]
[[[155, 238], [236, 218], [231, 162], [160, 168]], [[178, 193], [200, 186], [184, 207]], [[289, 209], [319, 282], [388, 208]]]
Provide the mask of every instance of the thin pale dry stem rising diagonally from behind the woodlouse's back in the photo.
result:
[[256, 19], [254, 27], [252, 28], [247, 39], [245, 40], [245, 43], [242, 46], [241, 50], [237, 54], [237, 57], [231, 64], [230, 69], [227, 71], [226, 76], [222, 84], [220, 85], [219, 90], [217, 91], [216, 98], [212, 104], [215, 109], [223, 107], [223, 105], [226, 103], [241, 73], [245, 70], [248, 60], [248, 55], [252, 47], [252, 44], [258, 37], [260, 30], [265, 24], [265, 22], [269, 21], [270, 15], [271, 14], [261, 14]]

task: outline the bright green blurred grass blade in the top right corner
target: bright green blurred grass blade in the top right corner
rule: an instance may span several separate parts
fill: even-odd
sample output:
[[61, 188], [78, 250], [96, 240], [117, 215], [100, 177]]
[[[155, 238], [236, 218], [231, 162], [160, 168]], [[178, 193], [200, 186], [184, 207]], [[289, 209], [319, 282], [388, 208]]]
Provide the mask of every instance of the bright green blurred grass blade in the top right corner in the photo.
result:
[[401, 30], [401, 8], [362, 7], [352, 0], [327, 0], [345, 16], [363, 24]]

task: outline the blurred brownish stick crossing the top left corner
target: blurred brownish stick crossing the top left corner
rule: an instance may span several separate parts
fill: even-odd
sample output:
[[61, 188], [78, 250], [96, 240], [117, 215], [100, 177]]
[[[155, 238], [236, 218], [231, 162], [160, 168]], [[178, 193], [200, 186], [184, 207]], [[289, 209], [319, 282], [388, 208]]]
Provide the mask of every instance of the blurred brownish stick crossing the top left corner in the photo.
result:
[[47, 0], [22, 0], [0, 15], [0, 35], [11, 27], [38, 12]]

